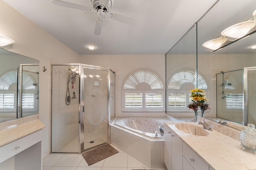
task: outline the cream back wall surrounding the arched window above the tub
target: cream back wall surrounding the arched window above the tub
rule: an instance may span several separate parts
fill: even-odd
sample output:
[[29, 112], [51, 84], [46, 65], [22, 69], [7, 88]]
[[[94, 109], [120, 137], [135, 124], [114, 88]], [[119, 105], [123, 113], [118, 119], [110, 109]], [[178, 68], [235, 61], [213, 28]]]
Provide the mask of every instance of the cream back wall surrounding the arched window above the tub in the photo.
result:
[[81, 63], [111, 68], [116, 72], [116, 116], [165, 116], [165, 113], [122, 112], [121, 94], [124, 79], [139, 68], [154, 70], [165, 88], [165, 55], [81, 55]]

